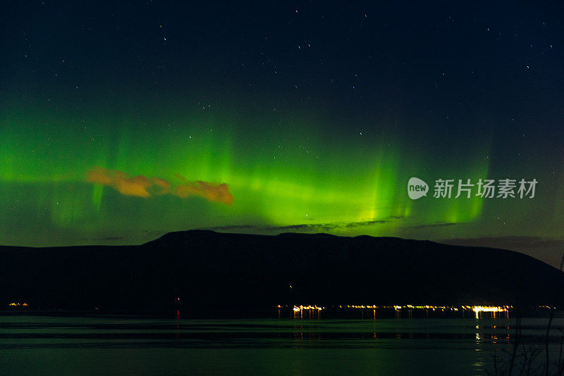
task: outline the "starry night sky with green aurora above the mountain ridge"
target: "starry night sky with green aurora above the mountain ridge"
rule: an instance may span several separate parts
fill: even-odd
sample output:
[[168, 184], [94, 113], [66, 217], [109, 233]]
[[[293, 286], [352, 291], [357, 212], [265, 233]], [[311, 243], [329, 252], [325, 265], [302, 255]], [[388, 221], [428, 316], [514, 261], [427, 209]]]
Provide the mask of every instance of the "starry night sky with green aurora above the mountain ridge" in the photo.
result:
[[[1, 5], [0, 244], [328, 232], [558, 265], [557, 2], [116, 3]], [[455, 199], [458, 179], [538, 183]]]

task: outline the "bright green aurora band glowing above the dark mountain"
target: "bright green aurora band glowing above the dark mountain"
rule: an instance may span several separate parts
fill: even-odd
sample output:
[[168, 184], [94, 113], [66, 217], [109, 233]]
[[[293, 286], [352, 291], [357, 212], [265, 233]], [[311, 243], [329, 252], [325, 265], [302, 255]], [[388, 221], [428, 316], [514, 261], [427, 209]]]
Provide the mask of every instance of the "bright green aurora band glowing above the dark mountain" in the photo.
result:
[[[329, 125], [322, 118], [280, 115], [286, 125], [279, 126], [271, 114], [237, 120], [229, 111], [192, 116], [173, 111], [162, 119], [128, 113], [1, 115], [0, 204], [19, 214], [0, 233], [7, 242], [39, 225], [48, 234], [24, 244], [87, 244], [104, 234], [237, 225], [264, 232], [293, 225], [321, 232], [315, 225], [332, 225], [329, 232], [335, 234], [407, 237], [446, 234], [440, 228], [417, 230], [423, 225], [477, 223], [477, 234], [487, 226], [481, 222], [484, 199], [432, 199], [431, 181], [488, 177], [487, 140], [446, 163], [435, 150], [414, 149], [393, 132], [324, 134]], [[199, 198], [123, 196], [86, 183], [94, 167], [171, 182], [178, 175], [225, 182], [235, 201], [229, 207]], [[427, 199], [407, 197], [412, 176], [429, 183]], [[241, 231], [252, 231], [245, 228]], [[59, 239], [61, 233], [74, 234], [74, 240]], [[133, 235], [124, 242], [139, 239], [147, 240]]]

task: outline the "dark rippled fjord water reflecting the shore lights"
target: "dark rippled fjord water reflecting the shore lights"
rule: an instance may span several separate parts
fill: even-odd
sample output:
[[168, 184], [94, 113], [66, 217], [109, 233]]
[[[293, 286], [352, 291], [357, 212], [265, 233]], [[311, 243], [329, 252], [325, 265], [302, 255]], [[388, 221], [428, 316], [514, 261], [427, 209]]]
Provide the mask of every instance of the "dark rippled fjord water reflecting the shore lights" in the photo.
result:
[[[176, 319], [0, 315], [2, 375], [485, 375], [513, 318]], [[545, 346], [547, 318], [523, 318]], [[564, 318], [549, 341], [556, 361]], [[544, 356], [543, 356], [544, 357]], [[544, 358], [542, 359], [544, 360]]]

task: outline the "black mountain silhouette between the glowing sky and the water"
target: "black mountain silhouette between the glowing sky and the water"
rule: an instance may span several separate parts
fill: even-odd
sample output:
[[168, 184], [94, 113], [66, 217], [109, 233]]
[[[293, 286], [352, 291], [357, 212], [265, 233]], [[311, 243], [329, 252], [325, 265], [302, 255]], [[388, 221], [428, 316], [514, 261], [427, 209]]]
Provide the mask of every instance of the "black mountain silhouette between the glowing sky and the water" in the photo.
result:
[[[292, 286], [290, 288], [290, 285]], [[391, 237], [172, 232], [140, 246], [0, 247], [0, 302], [31, 308], [550, 304], [564, 273], [515, 251]]]

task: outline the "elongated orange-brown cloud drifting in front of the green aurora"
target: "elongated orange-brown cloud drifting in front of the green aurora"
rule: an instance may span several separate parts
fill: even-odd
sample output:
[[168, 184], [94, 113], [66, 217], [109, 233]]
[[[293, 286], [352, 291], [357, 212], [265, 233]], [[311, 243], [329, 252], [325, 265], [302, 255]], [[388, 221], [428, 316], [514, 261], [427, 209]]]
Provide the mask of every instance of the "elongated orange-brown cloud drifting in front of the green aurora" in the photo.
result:
[[172, 187], [171, 183], [159, 177], [145, 177], [143, 175], [131, 177], [123, 171], [106, 168], [93, 168], [86, 174], [86, 181], [94, 184], [113, 187], [126, 196], [150, 197], [156, 194], [173, 194], [185, 199], [190, 196], [200, 196], [209, 201], [233, 204], [233, 195], [225, 183], [189, 182], [181, 175], [176, 175], [183, 183]]

